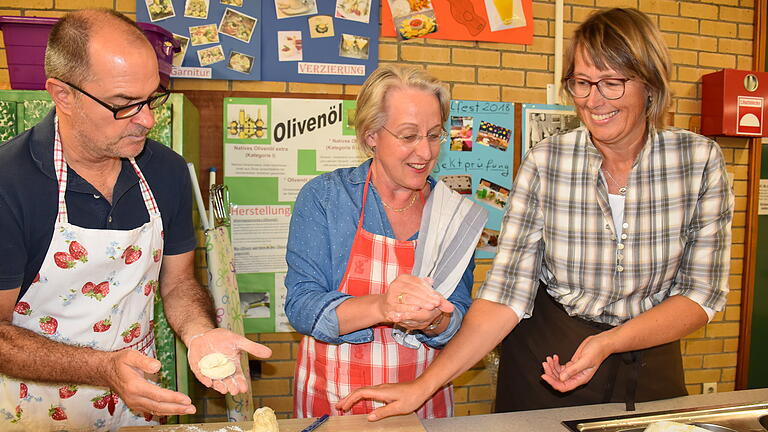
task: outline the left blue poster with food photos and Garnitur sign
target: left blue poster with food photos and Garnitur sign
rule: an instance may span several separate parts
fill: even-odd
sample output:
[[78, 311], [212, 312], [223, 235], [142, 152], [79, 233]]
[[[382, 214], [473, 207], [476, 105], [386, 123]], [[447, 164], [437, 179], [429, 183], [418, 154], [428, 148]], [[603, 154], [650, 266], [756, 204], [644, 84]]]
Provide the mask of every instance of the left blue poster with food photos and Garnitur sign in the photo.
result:
[[137, 0], [136, 20], [179, 41], [171, 78], [259, 80], [261, 8], [254, 0]]

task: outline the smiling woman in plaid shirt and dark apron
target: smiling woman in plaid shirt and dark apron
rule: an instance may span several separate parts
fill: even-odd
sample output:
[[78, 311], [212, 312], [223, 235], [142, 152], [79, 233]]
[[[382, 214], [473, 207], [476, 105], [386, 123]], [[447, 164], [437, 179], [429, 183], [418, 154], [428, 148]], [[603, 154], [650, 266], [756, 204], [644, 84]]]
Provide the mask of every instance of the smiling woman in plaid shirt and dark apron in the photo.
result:
[[733, 192], [722, 153], [665, 127], [671, 61], [638, 10], [588, 18], [565, 65], [584, 126], [526, 155], [461, 330], [415, 381], [358, 390], [342, 408], [371, 398], [388, 402], [371, 420], [412, 411], [508, 333], [497, 411], [633, 409], [686, 394], [679, 340], [728, 293]]

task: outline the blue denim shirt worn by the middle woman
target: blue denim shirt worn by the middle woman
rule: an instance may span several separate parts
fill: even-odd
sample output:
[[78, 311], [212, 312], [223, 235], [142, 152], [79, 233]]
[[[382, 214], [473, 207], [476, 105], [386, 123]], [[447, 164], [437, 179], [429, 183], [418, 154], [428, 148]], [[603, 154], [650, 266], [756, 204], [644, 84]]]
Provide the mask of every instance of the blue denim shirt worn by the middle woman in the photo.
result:
[[[370, 328], [339, 335], [336, 308], [352, 297], [340, 292], [349, 253], [360, 220], [365, 178], [371, 160], [357, 168], [341, 168], [310, 180], [299, 192], [291, 216], [288, 234], [288, 295], [285, 313], [299, 332], [327, 343], [366, 343], [373, 340]], [[435, 180], [428, 179], [434, 186]], [[394, 238], [395, 234], [371, 183], [365, 204], [363, 229]], [[409, 240], [418, 237], [414, 234]], [[417, 338], [433, 348], [442, 348], [461, 326], [471, 299], [474, 260], [470, 260], [461, 282], [448, 297], [456, 307], [448, 328], [430, 338]]]

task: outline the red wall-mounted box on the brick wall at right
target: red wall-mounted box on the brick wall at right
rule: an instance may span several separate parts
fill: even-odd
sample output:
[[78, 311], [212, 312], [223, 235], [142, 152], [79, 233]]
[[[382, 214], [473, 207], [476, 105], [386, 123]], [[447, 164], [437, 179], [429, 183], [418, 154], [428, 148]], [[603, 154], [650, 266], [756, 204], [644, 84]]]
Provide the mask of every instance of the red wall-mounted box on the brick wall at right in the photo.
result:
[[701, 81], [702, 135], [768, 136], [768, 73], [723, 69]]

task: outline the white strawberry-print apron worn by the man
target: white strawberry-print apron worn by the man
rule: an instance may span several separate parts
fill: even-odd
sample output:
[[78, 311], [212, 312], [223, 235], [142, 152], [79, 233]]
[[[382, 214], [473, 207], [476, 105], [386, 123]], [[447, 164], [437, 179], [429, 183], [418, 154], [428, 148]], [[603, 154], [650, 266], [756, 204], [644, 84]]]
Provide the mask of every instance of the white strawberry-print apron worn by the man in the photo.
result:
[[[152, 313], [163, 250], [157, 203], [136, 161], [149, 222], [132, 230], [67, 222], [67, 164], [56, 120], [58, 215], [40, 273], [16, 304], [13, 324], [57, 342], [154, 357]], [[34, 361], [34, 359], [30, 359]], [[19, 381], [0, 375], [0, 430], [116, 431], [157, 424], [131, 412], [109, 388]]]

